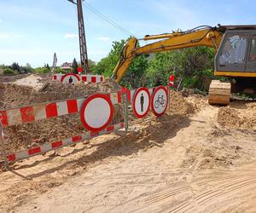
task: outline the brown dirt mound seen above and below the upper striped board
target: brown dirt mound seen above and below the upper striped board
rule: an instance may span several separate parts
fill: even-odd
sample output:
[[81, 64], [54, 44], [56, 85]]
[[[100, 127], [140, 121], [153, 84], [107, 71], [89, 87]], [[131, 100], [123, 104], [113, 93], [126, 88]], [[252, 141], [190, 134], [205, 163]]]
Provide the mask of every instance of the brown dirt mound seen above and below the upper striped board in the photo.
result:
[[[34, 75], [26, 78], [22, 78], [15, 83], [4, 84], [3, 109], [34, 105], [46, 101], [78, 98], [79, 96], [89, 96], [95, 93], [117, 92], [120, 89], [119, 84], [109, 78], [104, 83], [72, 84], [52, 82], [50, 78], [40, 78]], [[28, 83], [30, 85], [27, 85]], [[38, 85], [41, 85], [39, 89]], [[120, 107], [114, 107], [115, 112], [118, 112]], [[8, 153], [14, 153], [45, 142], [72, 137], [84, 131], [79, 113], [76, 113], [37, 121], [32, 124], [11, 126], [4, 130], [4, 135]]]

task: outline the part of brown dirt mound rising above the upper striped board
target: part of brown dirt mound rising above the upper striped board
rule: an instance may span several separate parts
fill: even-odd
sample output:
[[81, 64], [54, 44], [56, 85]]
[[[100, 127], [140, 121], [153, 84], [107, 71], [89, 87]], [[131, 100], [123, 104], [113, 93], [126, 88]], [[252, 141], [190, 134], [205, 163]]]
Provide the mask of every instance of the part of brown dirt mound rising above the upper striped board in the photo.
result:
[[[27, 82], [32, 78], [32, 75], [27, 77], [29, 79], [24, 80], [22, 78], [18, 83], [7, 83], [5, 84], [4, 95], [3, 95], [3, 108], [14, 108], [32, 105], [35, 103], [42, 103], [46, 101], [59, 101], [69, 98], [77, 98], [82, 96], [88, 96], [95, 93], [109, 93], [117, 92], [120, 87], [118, 83], [115, 83], [110, 78], [107, 78], [103, 83], [60, 83], [47, 81], [42, 83], [42, 86], [38, 89], [38, 81], [31, 84]], [[44, 80], [44, 79], [43, 79]]]

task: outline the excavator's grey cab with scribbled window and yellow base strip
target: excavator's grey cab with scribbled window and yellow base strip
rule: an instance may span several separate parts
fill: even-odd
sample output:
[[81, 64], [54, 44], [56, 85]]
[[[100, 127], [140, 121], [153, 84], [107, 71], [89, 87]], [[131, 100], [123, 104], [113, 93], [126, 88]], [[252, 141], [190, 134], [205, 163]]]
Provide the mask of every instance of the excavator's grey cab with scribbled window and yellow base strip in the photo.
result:
[[256, 73], [256, 26], [221, 27], [226, 31], [215, 57], [215, 74], [253, 77]]

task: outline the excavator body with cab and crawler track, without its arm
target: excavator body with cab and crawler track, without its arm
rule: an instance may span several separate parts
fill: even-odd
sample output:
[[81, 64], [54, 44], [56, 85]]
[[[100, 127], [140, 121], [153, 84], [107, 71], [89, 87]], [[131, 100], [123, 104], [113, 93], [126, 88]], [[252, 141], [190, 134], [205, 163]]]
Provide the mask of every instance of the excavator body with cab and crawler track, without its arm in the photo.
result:
[[208, 101], [228, 105], [230, 93], [256, 94], [256, 26], [220, 26], [224, 36], [215, 56], [215, 76], [229, 82], [212, 80]]

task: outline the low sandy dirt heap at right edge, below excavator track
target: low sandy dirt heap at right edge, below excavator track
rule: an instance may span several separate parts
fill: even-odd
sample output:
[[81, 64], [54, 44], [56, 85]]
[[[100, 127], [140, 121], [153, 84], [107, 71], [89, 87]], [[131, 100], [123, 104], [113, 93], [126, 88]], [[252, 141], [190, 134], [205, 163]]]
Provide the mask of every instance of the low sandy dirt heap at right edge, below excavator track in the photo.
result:
[[256, 130], [256, 103], [241, 102], [218, 110], [218, 123], [229, 129]]

